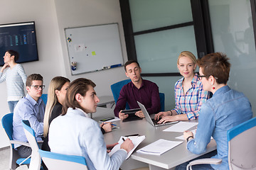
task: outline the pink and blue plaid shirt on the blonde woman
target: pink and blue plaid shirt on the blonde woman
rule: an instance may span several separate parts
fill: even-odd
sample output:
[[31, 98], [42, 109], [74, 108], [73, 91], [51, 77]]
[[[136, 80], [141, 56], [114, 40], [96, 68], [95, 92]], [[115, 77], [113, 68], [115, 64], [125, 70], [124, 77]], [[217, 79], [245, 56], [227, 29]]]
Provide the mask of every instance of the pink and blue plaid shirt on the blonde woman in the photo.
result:
[[209, 98], [209, 95], [207, 91], [203, 91], [203, 85], [198, 79], [198, 74], [195, 74], [191, 81], [191, 88], [184, 94], [182, 86], [183, 79], [179, 79], [175, 84], [174, 110], [178, 114], [186, 114], [188, 120], [194, 120], [198, 118], [200, 108]]

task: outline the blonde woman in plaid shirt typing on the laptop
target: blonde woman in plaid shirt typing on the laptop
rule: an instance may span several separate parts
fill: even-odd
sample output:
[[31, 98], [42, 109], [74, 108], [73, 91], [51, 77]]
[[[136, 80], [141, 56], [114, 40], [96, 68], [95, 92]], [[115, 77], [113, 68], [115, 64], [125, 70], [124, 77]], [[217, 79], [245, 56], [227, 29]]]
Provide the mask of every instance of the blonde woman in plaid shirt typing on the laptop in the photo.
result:
[[175, 108], [171, 111], [160, 112], [155, 115], [159, 123], [177, 120], [195, 120], [198, 118], [201, 105], [208, 99], [207, 91], [198, 79], [196, 57], [192, 52], [183, 51], [178, 56], [177, 67], [183, 78], [175, 84]]

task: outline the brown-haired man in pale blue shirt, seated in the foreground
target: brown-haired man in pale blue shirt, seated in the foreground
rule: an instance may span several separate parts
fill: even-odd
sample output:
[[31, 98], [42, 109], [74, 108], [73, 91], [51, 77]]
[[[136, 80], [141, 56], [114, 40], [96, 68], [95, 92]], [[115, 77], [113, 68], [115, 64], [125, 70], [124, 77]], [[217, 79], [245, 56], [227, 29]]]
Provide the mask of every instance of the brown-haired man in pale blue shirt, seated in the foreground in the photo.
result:
[[[95, 113], [100, 99], [89, 79], [76, 79], [68, 87], [63, 113], [50, 123], [51, 152], [85, 157], [88, 169], [119, 169], [134, 145], [127, 139], [121, 149], [107, 154], [107, 147], [100, 126], [87, 113]], [[113, 145], [111, 146], [113, 147]]]

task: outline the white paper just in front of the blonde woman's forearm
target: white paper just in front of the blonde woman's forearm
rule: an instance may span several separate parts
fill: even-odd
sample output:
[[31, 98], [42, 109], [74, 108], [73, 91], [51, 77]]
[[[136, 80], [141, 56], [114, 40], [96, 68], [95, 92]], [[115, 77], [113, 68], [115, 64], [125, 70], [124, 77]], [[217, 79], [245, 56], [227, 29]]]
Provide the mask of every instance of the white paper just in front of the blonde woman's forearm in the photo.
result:
[[190, 129], [195, 125], [198, 125], [198, 123], [179, 122], [163, 131], [164, 132], [184, 132], [185, 130]]

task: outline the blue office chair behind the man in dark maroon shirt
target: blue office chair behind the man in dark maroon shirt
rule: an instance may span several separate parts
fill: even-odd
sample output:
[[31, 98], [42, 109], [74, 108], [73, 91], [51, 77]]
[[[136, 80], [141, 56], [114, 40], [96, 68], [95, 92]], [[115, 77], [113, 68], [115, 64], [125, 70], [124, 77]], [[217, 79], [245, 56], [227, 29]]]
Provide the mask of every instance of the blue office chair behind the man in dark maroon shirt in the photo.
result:
[[[117, 83], [115, 84], [112, 84], [110, 86], [111, 88], [111, 91], [112, 91], [112, 94], [114, 96], [114, 102], [117, 103], [117, 100], [119, 98], [119, 94], [120, 94], [120, 91], [122, 89], [122, 87], [125, 85], [125, 84], [128, 84], [129, 82], [131, 81], [131, 79], [125, 79], [125, 80], [122, 80], [122, 81], [118, 81]], [[159, 93], [159, 97], [160, 97], [160, 103], [161, 103], [161, 109], [160, 111], [164, 111], [164, 93]], [[129, 105], [128, 103], [126, 103], [126, 109], [129, 109]]]

